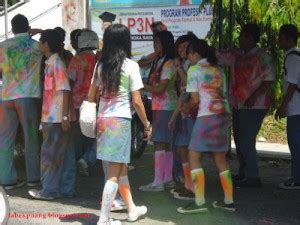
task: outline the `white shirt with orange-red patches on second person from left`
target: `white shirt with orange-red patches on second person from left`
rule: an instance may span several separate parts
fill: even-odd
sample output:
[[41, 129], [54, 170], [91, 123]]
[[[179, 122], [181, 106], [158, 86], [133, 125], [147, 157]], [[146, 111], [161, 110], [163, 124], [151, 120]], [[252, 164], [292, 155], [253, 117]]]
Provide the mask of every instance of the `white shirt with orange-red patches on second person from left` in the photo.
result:
[[[70, 91], [65, 65], [58, 54], [46, 61], [43, 93], [42, 122], [61, 123], [63, 118], [63, 91]], [[74, 108], [70, 106], [69, 118], [73, 121]]]

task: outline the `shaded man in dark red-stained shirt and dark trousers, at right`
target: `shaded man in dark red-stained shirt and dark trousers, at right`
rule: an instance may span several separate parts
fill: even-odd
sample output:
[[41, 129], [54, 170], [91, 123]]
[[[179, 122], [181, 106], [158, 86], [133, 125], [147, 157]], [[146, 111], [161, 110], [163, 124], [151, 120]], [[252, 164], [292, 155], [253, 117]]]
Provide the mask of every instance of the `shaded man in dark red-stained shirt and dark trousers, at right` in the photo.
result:
[[272, 106], [275, 67], [270, 55], [257, 47], [259, 39], [258, 25], [246, 24], [239, 37], [240, 49], [218, 54], [219, 62], [231, 68], [229, 99], [240, 164], [238, 174], [233, 176], [237, 187], [261, 186], [255, 144], [263, 119]]

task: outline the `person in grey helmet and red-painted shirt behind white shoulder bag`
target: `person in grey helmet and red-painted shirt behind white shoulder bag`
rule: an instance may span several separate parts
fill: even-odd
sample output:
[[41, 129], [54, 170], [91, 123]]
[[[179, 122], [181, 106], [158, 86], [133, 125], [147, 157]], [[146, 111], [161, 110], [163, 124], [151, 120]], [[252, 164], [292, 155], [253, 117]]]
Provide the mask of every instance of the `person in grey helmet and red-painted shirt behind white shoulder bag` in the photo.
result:
[[[79, 126], [79, 108], [87, 98], [91, 85], [94, 68], [96, 65], [96, 55], [93, 52], [98, 49], [99, 38], [97, 34], [89, 29], [82, 29], [77, 37], [78, 54], [69, 63], [67, 72], [72, 87], [72, 102], [76, 111], [77, 121], [74, 124], [74, 137], [72, 142], [76, 148], [76, 159], [79, 171], [89, 176], [88, 167], [96, 163], [96, 140], [88, 138], [81, 133]], [[73, 43], [75, 44], [75, 43]]]

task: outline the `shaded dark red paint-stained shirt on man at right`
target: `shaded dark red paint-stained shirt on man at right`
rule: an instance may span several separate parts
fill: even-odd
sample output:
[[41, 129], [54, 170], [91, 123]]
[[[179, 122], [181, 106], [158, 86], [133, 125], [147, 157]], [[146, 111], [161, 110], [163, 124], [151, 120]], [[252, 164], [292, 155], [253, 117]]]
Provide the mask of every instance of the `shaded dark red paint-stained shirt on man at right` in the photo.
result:
[[[272, 58], [261, 48], [253, 48], [247, 54], [240, 50], [229, 50], [218, 54], [220, 63], [230, 66], [230, 99], [235, 108], [247, 108], [245, 101], [264, 81], [276, 79]], [[261, 92], [252, 109], [271, 107], [270, 92]]]

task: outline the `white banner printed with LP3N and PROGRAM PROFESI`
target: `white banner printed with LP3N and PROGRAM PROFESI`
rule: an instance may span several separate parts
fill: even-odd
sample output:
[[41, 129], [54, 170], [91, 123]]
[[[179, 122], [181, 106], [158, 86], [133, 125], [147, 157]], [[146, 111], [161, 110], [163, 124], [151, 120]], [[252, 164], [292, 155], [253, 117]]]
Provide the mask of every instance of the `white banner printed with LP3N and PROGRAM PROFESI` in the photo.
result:
[[205, 38], [210, 30], [212, 8], [206, 5], [199, 11], [199, 5], [123, 8], [123, 9], [92, 9], [91, 28], [103, 37], [102, 21], [99, 15], [108, 11], [116, 15], [114, 23], [127, 26], [132, 35], [132, 53], [134, 59], [153, 52], [152, 31], [150, 25], [154, 21], [162, 21], [177, 39], [179, 36], [193, 32], [199, 38]]

